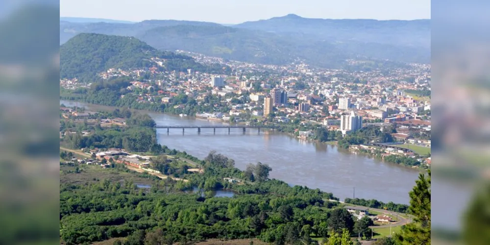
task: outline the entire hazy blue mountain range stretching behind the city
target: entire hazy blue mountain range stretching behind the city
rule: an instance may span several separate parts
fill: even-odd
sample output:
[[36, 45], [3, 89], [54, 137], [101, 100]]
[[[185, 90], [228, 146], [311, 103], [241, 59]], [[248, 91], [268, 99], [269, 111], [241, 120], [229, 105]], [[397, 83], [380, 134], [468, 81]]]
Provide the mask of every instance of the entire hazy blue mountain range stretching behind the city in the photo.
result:
[[135, 24], [60, 22], [60, 43], [83, 32], [133, 36], [165, 50], [188, 50], [230, 60], [287, 64], [297, 59], [344, 68], [347, 59], [430, 62], [430, 20], [308, 19], [287, 15], [224, 26], [151, 20]]

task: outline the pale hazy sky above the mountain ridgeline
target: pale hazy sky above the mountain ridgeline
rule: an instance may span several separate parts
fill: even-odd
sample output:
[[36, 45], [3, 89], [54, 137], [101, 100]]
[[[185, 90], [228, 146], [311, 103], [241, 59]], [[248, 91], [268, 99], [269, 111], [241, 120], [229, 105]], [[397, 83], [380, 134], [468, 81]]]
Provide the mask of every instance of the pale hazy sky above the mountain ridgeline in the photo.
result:
[[60, 0], [60, 16], [221, 24], [297, 14], [322, 19], [430, 19], [430, 0]]

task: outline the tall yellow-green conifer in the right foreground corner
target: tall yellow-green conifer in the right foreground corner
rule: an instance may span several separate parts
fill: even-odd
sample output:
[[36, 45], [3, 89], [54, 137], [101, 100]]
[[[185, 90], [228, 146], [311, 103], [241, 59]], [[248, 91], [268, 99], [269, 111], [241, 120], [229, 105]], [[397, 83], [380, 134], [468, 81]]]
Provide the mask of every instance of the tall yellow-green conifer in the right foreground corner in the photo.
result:
[[414, 189], [409, 193], [409, 211], [414, 215], [414, 222], [406, 224], [400, 233], [395, 234], [394, 239], [402, 245], [430, 244], [431, 238], [431, 176], [430, 170], [427, 176], [419, 174]]

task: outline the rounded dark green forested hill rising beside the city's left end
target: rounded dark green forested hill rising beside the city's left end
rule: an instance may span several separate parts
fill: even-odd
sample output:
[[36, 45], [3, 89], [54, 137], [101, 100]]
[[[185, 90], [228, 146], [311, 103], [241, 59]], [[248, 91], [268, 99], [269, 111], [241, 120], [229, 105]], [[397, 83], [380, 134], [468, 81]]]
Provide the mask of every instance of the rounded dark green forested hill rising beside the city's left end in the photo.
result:
[[[165, 59], [163, 66], [151, 61], [152, 57]], [[153, 66], [169, 71], [219, 72], [197, 63], [192, 57], [154, 49], [134, 37], [81, 33], [60, 48], [61, 78], [93, 81], [97, 73], [111, 68], [131, 70]]]

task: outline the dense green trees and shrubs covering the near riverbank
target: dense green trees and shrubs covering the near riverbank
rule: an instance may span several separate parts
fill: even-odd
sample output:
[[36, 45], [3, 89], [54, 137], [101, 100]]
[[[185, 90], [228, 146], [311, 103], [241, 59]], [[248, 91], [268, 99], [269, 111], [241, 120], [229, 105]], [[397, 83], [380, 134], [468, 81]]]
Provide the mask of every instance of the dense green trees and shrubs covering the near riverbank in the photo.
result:
[[[76, 128], [70, 123], [64, 125]], [[130, 179], [111, 182], [94, 177], [91, 181], [62, 181], [60, 240], [63, 243], [90, 244], [118, 238], [115, 244], [157, 245], [190, 244], [213, 238], [258, 238], [274, 244], [315, 244], [313, 238], [319, 237], [325, 238], [325, 243], [341, 245], [352, 244], [351, 234], [370, 236], [370, 230], [365, 227], [367, 222], [353, 221], [345, 209], [338, 207], [339, 202], [328, 201], [337, 199], [331, 193], [291, 187], [283, 181], [269, 179], [272, 170], [267, 164], [250, 164], [241, 171], [234, 167], [232, 159], [216, 152], [198, 160], [185, 152], [162, 147], [156, 143], [153, 125], [147, 115], [132, 114], [126, 128], [102, 129], [97, 123], [85, 125], [93, 130], [92, 135], [66, 136], [63, 143], [73, 147], [122, 146], [129, 147], [126, 150], [130, 151], [151, 151], [159, 155], [152, 161], [157, 168], [165, 164], [159, 161], [165, 154], [178, 155], [194, 161], [204, 172], [189, 173], [185, 168], [174, 170], [187, 182], [170, 178], [157, 180], [143, 174], [141, 176], [152, 181], [151, 189], [146, 190], [138, 189]], [[133, 139], [137, 134], [142, 136]], [[116, 172], [130, 172], [121, 164], [113, 167]], [[165, 166], [160, 167], [165, 169]], [[60, 174], [70, 174], [63, 178], [70, 179], [84, 172], [85, 167], [81, 167]], [[223, 180], [225, 177], [240, 182], [230, 183]], [[414, 194], [410, 194], [409, 211], [420, 218], [410, 229], [402, 229], [396, 236], [395, 240], [400, 243], [427, 242], [427, 239], [430, 243], [430, 178], [428, 182], [424, 180], [426, 178], [421, 175]], [[193, 187], [205, 191], [225, 188], [237, 195], [229, 198], [183, 192]]]

